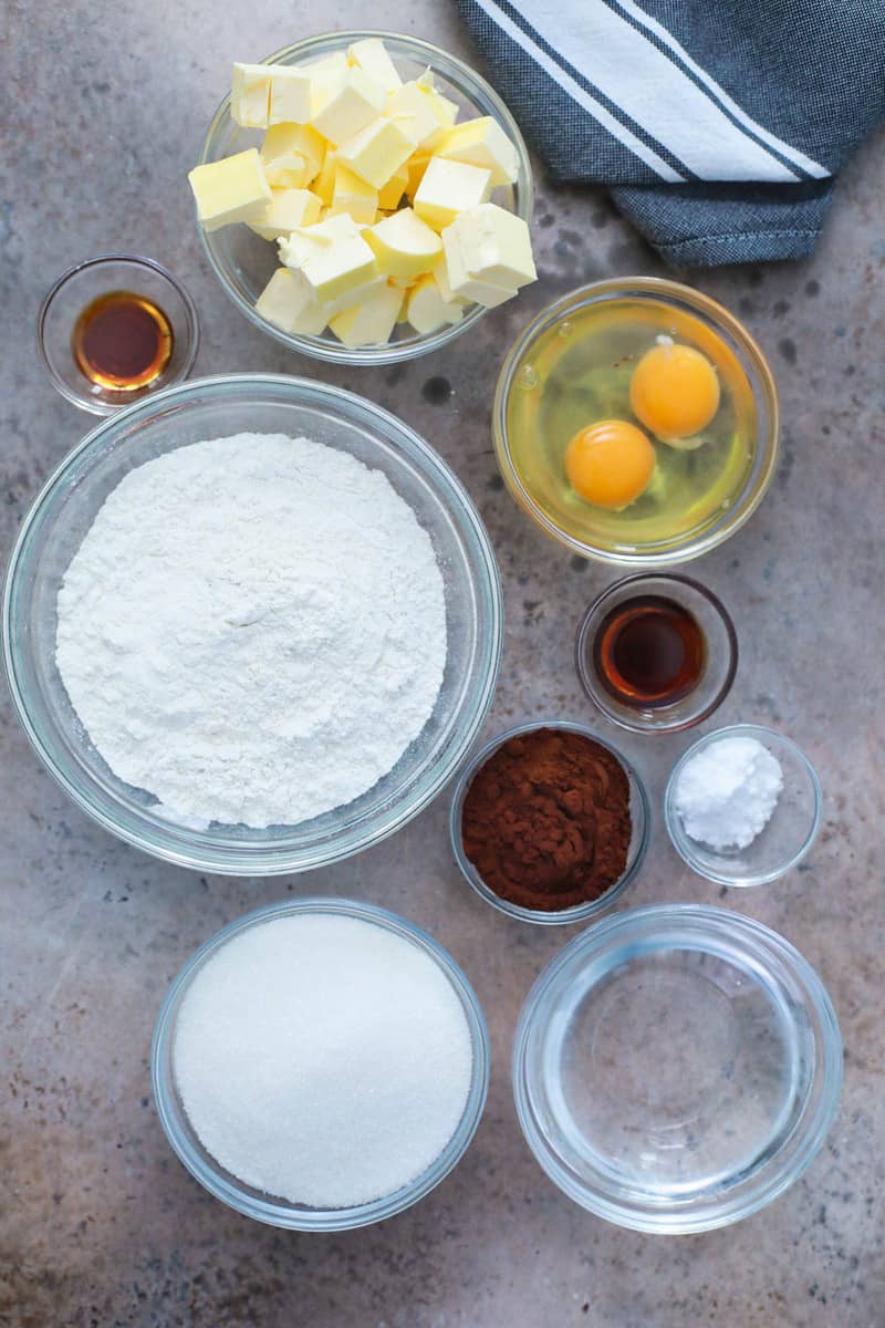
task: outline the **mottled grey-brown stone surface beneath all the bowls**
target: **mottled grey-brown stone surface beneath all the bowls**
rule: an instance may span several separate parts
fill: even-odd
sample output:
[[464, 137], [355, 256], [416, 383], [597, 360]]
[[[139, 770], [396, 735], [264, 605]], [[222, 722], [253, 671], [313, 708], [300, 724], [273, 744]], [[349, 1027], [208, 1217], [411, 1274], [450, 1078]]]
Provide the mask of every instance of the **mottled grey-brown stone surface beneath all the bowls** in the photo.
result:
[[[450, 351], [379, 372], [287, 355], [228, 305], [194, 234], [184, 171], [234, 56], [257, 58], [328, 25], [318, 4], [65, 7], [13, 0], [5, 54], [0, 548], [41, 481], [86, 432], [42, 376], [40, 299], [69, 263], [109, 248], [154, 255], [194, 293], [198, 371], [276, 369], [346, 384], [390, 406], [456, 466], [488, 523], [507, 644], [488, 732], [589, 712], [572, 668], [588, 598], [610, 579], [545, 542], [502, 491], [488, 436], [496, 368], [553, 295], [657, 272], [592, 190], [540, 179], [541, 282]], [[454, 5], [344, 0], [372, 21], [466, 53]], [[567, 939], [498, 916], [464, 887], [446, 798], [374, 851], [310, 876], [200, 878], [142, 857], [81, 815], [37, 765], [0, 701], [0, 1323], [11, 1328], [881, 1328], [885, 1032], [882, 902], [882, 485], [885, 142], [854, 161], [816, 258], [697, 284], [739, 312], [771, 356], [784, 412], [772, 491], [697, 567], [731, 608], [738, 680], [719, 721], [775, 724], [827, 789], [824, 829], [780, 884], [720, 892], [670, 849], [661, 794], [689, 738], [624, 742], [654, 801], [653, 849], [629, 903], [715, 900], [783, 931], [828, 984], [845, 1035], [845, 1094], [805, 1178], [727, 1231], [659, 1239], [569, 1203], [517, 1130], [513, 1023]], [[447, 386], [448, 385], [448, 386]], [[605, 729], [602, 729], [605, 732]], [[613, 734], [609, 734], [613, 736]], [[166, 1147], [147, 1057], [163, 991], [219, 926], [287, 892], [360, 895], [427, 927], [488, 1013], [488, 1110], [460, 1167], [422, 1204], [346, 1236], [287, 1235], [206, 1195]]]

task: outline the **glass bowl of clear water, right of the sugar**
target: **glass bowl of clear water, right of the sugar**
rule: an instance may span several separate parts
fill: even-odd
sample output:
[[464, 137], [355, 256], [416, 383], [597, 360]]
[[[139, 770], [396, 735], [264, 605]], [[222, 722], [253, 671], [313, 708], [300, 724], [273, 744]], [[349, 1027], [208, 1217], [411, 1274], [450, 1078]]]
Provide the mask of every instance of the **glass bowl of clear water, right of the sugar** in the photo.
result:
[[519, 1122], [551, 1181], [608, 1222], [667, 1235], [787, 1190], [824, 1143], [841, 1078], [813, 968], [710, 906], [589, 927], [540, 973], [513, 1044]]

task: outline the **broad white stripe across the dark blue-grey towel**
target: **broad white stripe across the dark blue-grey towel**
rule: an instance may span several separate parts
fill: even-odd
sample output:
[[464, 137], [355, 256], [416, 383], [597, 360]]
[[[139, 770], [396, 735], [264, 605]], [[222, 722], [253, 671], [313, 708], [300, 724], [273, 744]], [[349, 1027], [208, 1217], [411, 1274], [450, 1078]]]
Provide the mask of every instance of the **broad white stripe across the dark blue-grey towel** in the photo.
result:
[[[524, 33], [510, 24], [494, 0], [480, 3], [513, 40], [523, 39], [520, 45], [525, 45]], [[601, 0], [579, 0], [572, 7], [563, 0], [519, 0], [519, 12], [563, 60], [580, 69], [588, 82], [701, 179], [797, 179], [748, 138], [665, 52]], [[535, 56], [540, 48], [535, 42], [532, 46]], [[547, 56], [544, 60], [547, 72], [575, 96], [565, 84], [568, 74], [556, 61]], [[618, 127], [622, 138], [625, 130]]]

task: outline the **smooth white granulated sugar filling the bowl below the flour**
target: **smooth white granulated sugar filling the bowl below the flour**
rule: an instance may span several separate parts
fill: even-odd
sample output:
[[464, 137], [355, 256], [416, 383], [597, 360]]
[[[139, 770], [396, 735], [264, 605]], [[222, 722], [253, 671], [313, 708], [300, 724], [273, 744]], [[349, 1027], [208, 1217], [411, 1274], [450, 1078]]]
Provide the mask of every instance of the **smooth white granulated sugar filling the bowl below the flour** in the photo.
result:
[[212, 1157], [313, 1207], [391, 1194], [452, 1137], [472, 1069], [451, 983], [370, 922], [293, 915], [235, 936], [182, 1003], [172, 1073]]

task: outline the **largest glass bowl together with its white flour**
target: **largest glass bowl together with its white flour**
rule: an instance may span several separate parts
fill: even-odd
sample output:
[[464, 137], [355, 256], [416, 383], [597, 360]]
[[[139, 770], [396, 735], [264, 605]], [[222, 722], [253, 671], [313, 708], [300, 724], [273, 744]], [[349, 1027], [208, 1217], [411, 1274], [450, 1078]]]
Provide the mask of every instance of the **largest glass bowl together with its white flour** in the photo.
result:
[[204, 871], [306, 870], [447, 782], [491, 704], [494, 552], [422, 438], [338, 388], [204, 378], [121, 412], [27, 517], [13, 700], [107, 830]]

